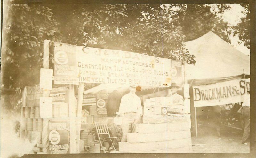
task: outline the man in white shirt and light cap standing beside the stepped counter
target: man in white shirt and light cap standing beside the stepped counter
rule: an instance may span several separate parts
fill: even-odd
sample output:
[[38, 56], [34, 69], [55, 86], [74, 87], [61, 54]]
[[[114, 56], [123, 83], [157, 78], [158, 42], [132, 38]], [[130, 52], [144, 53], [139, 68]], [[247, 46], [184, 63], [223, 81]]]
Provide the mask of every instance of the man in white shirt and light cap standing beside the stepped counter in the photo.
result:
[[125, 94], [120, 103], [119, 114], [123, 117], [122, 121], [122, 142], [127, 141], [127, 133], [133, 132], [134, 123], [142, 115], [141, 100], [135, 92], [138, 85], [130, 85], [130, 93]]

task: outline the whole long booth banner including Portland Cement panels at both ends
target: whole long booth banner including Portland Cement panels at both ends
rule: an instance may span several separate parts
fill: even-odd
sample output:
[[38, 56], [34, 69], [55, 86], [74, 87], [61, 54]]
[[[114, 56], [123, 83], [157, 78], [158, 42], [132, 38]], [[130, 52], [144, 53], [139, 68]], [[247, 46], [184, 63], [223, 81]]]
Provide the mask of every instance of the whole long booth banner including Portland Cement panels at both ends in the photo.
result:
[[113, 83], [168, 87], [183, 83], [182, 63], [121, 50], [54, 43], [54, 84]]

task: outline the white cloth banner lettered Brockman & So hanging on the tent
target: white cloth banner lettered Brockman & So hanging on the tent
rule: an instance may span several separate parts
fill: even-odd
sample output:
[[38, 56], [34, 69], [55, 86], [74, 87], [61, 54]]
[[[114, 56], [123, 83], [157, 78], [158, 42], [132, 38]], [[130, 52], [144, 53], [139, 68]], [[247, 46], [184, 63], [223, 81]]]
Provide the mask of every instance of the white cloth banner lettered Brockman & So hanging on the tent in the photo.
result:
[[194, 107], [231, 104], [244, 101], [250, 91], [250, 79], [234, 79], [192, 88]]

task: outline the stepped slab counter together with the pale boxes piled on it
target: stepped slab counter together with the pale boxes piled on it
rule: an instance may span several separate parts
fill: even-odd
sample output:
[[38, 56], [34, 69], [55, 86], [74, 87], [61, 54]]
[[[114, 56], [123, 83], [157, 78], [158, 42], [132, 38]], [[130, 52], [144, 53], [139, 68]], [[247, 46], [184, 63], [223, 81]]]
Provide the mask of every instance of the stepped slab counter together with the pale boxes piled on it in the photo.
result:
[[[177, 109], [180, 114], [163, 114], [163, 107]], [[190, 153], [191, 133], [184, 106], [172, 105], [172, 97], [156, 97], [144, 102], [143, 123], [127, 142], [119, 142], [120, 153]], [[169, 109], [168, 109], [169, 110]]]

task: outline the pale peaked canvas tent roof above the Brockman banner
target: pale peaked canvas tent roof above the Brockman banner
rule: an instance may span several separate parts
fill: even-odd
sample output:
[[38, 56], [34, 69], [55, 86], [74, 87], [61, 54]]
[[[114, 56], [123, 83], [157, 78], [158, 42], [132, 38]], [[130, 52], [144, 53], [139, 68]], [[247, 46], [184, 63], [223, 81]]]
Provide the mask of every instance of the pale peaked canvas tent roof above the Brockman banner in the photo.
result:
[[195, 65], [186, 65], [187, 79], [211, 79], [250, 74], [250, 57], [235, 49], [219, 36], [207, 34], [185, 42]]

